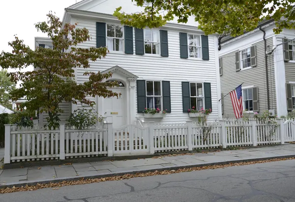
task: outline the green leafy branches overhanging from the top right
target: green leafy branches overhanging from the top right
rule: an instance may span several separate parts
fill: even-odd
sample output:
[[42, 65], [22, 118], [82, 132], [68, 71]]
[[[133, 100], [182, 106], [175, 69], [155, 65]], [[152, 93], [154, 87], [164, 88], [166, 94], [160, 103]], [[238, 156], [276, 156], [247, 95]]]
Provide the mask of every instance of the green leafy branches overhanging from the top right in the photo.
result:
[[[156, 28], [177, 17], [187, 23], [193, 16], [205, 34], [231, 33], [232, 36], [253, 30], [262, 19], [276, 21], [275, 33], [295, 28], [295, 0], [132, 0], [145, 6], [142, 12], [127, 14], [118, 7], [114, 12], [122, 24], [137, 28]], [[262, 18], [262, 16], [264, 16]]]

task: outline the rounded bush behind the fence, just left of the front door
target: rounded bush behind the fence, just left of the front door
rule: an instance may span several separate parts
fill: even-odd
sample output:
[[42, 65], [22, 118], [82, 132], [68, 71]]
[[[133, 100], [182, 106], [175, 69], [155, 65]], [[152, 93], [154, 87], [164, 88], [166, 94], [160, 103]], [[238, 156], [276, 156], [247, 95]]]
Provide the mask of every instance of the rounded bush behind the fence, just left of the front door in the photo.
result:
[[102, 121], [102, 118], [98, 118], [97, 113], [94, 113], [92, 109], [78, 109], [75, 110], [66, 121], [68, 122], [69, 126], [74, 126], [78, 129], [84, 129]]

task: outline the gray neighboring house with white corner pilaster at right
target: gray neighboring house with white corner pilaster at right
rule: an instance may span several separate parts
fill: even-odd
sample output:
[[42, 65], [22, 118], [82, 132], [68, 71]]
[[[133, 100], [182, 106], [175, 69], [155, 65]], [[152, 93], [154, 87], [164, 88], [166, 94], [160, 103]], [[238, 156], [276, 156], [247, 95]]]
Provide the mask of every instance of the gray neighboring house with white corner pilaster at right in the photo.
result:
[[[295, 33], [284, 29], [274, 34], [274, 27], [274, 21], [268, 20], [253, 31], [221, 40], [222, 95], [243, 83], [243, 108], [249, 113], [268, 110], [281, 116], [295, 108]], [[230, 95], [221, 102], [223, 117], [233, 117]]]

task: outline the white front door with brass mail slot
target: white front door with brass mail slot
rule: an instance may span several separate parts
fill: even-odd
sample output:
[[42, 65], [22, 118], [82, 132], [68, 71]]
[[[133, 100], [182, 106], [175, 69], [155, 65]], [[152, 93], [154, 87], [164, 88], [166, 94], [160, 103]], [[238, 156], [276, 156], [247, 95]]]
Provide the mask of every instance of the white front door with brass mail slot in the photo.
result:
[[113, 123], [113, 128], [119, 128], [126, 124], [125, 88], [112, 88], [113, 92], [121, 93], [120, 97], [110, 97], [104, 99], [104, 116], [108, 122]]

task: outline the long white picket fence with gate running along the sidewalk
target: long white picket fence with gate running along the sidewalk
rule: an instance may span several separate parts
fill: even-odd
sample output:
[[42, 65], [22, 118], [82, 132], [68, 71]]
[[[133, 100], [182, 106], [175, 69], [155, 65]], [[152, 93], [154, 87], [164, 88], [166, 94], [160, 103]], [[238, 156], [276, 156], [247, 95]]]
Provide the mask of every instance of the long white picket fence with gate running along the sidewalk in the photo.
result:
[[56, 130], [5, 125], [4, 163], [295, 141], [294, 120], [278, 119], [276, 126], [256, 120], [236, 119], [205, 125], [192, 121], [145, 124], [113, 128], [112, 123], [106, 123], [83, 130], [65, 127], [65, 124], [60, 124]]

